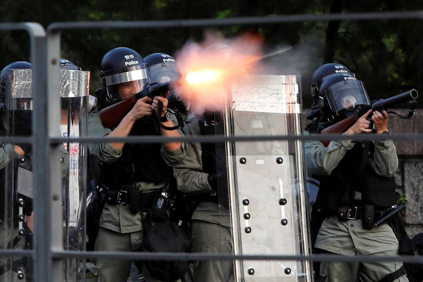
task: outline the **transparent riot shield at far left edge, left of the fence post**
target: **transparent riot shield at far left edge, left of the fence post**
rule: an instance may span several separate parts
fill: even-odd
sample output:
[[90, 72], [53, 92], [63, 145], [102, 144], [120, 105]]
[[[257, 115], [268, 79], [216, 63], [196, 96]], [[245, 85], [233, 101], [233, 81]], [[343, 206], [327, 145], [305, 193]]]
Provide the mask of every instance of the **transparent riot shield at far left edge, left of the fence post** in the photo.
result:
[[[31, 70], [10, 69], [1, 73], [0, 135], [31, 136]], [[0, 248], [32, 248], [32, 145], [0, 144]], [[31, 281], [29, 257], [1, 257], [0, 282]]]

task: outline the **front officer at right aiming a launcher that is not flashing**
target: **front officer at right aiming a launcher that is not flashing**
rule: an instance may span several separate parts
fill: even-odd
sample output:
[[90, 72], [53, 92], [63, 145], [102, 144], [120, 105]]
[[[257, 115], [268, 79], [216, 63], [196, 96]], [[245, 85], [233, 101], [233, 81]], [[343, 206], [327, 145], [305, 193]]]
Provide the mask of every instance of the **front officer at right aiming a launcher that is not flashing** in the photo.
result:
[[[316, 134], [370, 104], [364, 84], [351, 75], [337, 74], [324, 80], [319, 89], [321, 118]], [[368, 119], [370, 118], [370, 119]], [[372, 126], [373, 125], [373, 126]], [[341, 133], [341, 132], [339, 132]], [[373, 133], [380, 140], [358, 142], [354, 134]], [[322, 219], [315, 247], [321, 253], [346, 256], [394, 256], [398, 240], [388, 224], [373, 223], [397, 203], [394, 173], [398, 158], [389, 140], [388, 113], [367, 111], [349, 127], [349, 140], [307, 141], [305, 155], [313, 178], [320, 181], [314, 217]], [[379, 281], [401, 267], [394, 262], [321, 262], [321, 281]], [[368, 281], [364, 279], [363, 281]], [[406, 281], [401, 277], [395, 281]]]

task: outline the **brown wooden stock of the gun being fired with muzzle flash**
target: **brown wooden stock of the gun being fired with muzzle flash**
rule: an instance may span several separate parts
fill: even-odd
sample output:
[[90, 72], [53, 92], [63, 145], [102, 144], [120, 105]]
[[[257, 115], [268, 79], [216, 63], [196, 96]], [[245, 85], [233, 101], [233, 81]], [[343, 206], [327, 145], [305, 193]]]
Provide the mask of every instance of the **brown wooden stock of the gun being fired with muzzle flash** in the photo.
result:
[[136, 96], [132, 95], [119, 103], [112, 104], [100, 111], [100, 120], [105, 128], [113, 128], [120, 123], [136, 103]]

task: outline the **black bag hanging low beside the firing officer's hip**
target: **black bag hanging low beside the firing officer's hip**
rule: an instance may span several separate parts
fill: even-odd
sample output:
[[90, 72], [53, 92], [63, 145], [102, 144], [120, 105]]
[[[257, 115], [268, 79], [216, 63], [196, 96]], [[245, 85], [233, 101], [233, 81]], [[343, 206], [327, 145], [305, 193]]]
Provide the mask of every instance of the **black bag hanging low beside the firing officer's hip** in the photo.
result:
[[[142, 252], [189, 253], [190, 250], [188, 235], [169, 219], [148, 228], [141, 243]], [[152, 277], [164, 282], [182, 278], [189, 264], [186, 260], [144, 260], [143, 263]]]

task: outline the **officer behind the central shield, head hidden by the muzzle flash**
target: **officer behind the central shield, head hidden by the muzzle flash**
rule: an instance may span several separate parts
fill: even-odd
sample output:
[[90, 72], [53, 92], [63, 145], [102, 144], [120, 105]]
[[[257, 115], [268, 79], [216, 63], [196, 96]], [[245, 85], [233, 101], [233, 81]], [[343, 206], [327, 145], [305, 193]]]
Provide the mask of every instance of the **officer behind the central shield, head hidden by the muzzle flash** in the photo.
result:
[[[231, 47], [216, 44], [203, 52], [214, 52], [222, 57], [230, 56]], [[222, 111], [201, 110], [191, 97], [190, 114], [185, 120], [186, 135], [223, 135]], [[215, 108], [215, 105], [213, 106]], [[191, 252], [227, 253], [233, 252], [232, 230], [229, 215], [229, 191], [227, 179], [226, 151], [224, 143], [190, 143], [182, 163], [174, 166], [178, 189], [190, 193], [194, 199], [191, 217]], [[194, 281], [227, 282], [234, 273], [234, 266], [228, 260], [194, 262]]]

